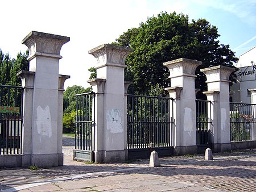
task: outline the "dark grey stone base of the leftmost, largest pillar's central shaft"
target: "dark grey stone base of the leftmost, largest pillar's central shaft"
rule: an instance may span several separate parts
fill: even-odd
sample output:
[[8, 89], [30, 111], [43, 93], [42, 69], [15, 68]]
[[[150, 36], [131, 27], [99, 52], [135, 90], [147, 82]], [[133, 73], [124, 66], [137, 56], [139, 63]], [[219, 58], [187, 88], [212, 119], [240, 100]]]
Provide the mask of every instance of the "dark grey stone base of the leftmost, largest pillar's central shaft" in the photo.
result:
[[57, 153], [53, 154], [33, 154], [31, 156], [31, 165], [38, 168], [49, 168], [51, 166], [58, 166], [59, 156]]

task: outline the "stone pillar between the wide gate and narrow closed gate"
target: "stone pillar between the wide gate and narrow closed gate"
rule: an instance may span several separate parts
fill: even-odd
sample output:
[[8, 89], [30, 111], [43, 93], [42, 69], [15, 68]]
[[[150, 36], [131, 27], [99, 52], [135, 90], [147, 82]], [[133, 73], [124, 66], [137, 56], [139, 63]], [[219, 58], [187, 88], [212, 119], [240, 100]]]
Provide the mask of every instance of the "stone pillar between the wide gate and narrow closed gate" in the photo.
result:
[[171, 87], [166, 88], [174, 98], [175, 150], [177, 155], [197, 153], [195, 71], [201, 61], [177, 59], [164, 62], [170, 71]]

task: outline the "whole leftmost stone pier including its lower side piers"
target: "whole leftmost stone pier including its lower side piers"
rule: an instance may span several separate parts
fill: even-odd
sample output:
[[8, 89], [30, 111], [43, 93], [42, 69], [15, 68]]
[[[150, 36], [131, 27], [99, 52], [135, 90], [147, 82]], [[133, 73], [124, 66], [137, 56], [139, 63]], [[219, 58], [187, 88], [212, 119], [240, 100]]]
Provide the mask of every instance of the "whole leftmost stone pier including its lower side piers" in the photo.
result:
[[22, 40], [30, 51], [29, 72], [19, 73], [26, 100], [23, 166], [63, 165], [63, 85], [69, 76], [59, 76], [59, 60], [60, 49], [68, 41], [69, 37], [36, 31]]

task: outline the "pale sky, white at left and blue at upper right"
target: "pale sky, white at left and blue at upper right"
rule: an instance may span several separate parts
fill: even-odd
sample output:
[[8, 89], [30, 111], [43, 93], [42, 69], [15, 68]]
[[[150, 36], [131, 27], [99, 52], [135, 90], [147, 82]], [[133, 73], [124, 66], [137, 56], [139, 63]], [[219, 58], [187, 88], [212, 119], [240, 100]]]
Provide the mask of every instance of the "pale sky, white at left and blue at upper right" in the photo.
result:
[[3, 0], [0, 3], [0, 49], [15, 58], [27, 47], [31, 31], [70, 37], [60, 55], [59, 74], [71, 76], [64, 88], [89, 87], [88, 69], [97, 60], [90, 49], [112, 43], [129, 28], [139, 27], [160, 12], [207, 19], [218, 28], [220, 44], [229, 44], [236, 57], [256, 46], [256, 0]]

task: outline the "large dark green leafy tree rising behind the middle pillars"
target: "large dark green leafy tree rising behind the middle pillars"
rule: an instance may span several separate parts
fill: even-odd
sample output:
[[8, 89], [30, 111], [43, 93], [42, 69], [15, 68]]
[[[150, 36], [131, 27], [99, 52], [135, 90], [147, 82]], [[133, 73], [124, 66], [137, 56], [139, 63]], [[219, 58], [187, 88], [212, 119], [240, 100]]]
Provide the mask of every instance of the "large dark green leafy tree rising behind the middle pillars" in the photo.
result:
[[196, 87], [206, 89], [201, 68], [237, 61], [229, 45], [217, 40], [217, 27], [205, 19], [192, 20], [187, 15], [162, 12], [148, 18], [138, 28], [124, 32], [113, 44], [134, 50], [126, 58], [126, 80], [133, 81], [133, 93], [150, 94], [155, 87], [170, 86], [169, 72], [163, 62], [185, 57], [203, 61], [196, 70]]

